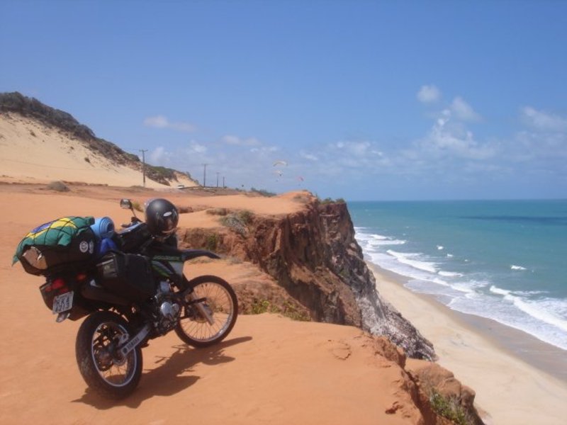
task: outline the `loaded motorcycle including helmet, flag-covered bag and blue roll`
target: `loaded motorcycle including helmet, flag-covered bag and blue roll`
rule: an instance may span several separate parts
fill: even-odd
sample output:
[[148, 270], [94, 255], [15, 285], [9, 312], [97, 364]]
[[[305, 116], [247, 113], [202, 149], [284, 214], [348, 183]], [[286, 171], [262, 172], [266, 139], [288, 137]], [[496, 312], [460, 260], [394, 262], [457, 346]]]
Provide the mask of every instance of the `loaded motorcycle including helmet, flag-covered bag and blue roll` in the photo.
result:
[[[235, 291], [225, 280], [184, 276], [185, 261], [220, 257], [177, 249], [179, 215], [172, 203], [150, 200], [145, 222], [130, 200], [120, 206], [133, 212], [121, 231], [108, 217], [64, 217], [30, 232], [14, 256], [28, 273], [45, 276], [40, 292], [57, 322], [86, 316], [75, 344], [79, 371], [89, 387], [111, 399], [137, 387], [141, 348], [150, 339], [173, 330], [186, 344], [211, 346], [225, 339], [238, 314]], [[47, 240], [50, 231], [59, 232], [57, 242]]]

